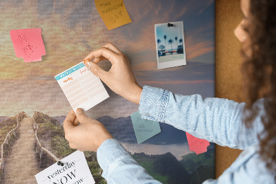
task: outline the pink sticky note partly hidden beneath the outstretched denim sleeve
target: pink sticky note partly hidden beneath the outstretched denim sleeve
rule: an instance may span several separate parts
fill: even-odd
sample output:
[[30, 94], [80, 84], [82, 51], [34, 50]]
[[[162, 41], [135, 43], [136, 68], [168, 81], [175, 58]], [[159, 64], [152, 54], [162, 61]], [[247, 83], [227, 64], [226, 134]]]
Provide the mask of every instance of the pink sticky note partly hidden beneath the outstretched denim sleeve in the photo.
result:
[[207, 151], [207, 147], [210, 145], [208, 140], [196, 138], [186, 132], [188, 145], [190, 151], [195, 151], [195, 154], [202, 154]]

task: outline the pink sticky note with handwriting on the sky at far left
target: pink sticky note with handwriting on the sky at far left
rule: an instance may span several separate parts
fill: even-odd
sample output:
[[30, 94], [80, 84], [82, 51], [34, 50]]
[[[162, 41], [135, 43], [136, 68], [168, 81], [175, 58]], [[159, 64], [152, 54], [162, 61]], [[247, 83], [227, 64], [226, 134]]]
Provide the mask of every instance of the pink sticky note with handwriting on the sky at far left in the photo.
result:
[[10, 30], [10, 37], [15, 55], [24, 62], [41, 61], [41, 56], [46, 55], [40, 28]]

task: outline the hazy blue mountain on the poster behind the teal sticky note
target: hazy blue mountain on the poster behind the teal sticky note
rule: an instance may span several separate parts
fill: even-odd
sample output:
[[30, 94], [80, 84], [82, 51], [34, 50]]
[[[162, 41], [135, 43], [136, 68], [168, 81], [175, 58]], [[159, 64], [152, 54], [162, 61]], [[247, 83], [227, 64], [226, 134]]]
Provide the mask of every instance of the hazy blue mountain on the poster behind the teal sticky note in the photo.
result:
[[[133, 129], [130, 116], [124, 118], [111, 118], [110, 116], [103, 116], [97, 120], [106, 127], [110, 134], [119, 142], [137, 143], [135, 131]], [[184, 131], [176, 129], [171, 125], [159, 122], [161, 132], [156, 136], [142, 142], [141, 144], [152, 145], [170, 145], [187, 142]]]

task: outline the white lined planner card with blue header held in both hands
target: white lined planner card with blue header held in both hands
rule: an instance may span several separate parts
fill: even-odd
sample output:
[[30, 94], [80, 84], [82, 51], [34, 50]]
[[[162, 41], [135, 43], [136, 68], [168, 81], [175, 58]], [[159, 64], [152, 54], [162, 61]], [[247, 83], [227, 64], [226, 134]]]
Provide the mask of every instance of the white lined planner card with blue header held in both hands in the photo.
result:
[[77, 108], [87, 111], [109, 97], [101, 80], [89, 71], [83, 62], [63, 71], [55, 78], [74, 111]]

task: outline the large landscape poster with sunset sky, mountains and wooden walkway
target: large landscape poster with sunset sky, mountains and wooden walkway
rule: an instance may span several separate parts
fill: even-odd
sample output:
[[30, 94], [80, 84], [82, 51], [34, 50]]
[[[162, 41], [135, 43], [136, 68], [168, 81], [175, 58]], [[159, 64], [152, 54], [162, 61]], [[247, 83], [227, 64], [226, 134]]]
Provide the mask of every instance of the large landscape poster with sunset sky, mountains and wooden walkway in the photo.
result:
[[[128, 56], [140, 86], [215, 97], [215, 1], [125, 0], [124, 4], [132, 22], [108, 30], [94, 1], [0, 2], [0, 183], [36, 183], [35, 174], [55, 158], [76, 151], [64, 138], [62, 124], [71, 107], [55, 75], [107, 42]], [[183, 21], [185, 37], [170, 43], [165, 35], [160, 37], [158, 44], [164, 45], [160, 53], [172, 54], [185, 44], [186, 65], [158, 70], [155, 24], [175, 21]], [[41, 28], [46, 49], [41, 61], [24, 62], [15, 55], [10, 30], [23, 28]], [[108, 61], [99, 65], [105, 70], [111, 66]], [[159, 123], [161, 133], [138, 145], [130, 118], [138, 105], [103, 85], [110, 97], [86, 114], [102, 122], [148, 174], [161, 183], [215, 178], [213, 143], [206, 153], [196, 155], [188, 148], [184, 131]], [[84, 154], [95, 182], [106, 183], [96, 153]]]

